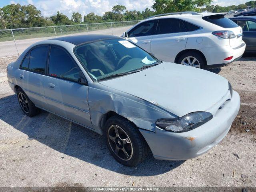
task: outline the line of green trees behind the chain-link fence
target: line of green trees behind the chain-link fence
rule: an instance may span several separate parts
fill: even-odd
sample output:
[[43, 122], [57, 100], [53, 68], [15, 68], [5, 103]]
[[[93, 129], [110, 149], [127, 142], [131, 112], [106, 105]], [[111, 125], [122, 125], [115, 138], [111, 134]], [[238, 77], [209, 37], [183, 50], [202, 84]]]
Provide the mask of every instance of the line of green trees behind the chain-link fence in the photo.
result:
[[53, 16], [44, 17], [34, 5], [10, 4], [0, 8], [0, 29], [41, 27], [54, 25], [71, 25], [82, 23], [100, 23], [129, 20], [143, 20], [155, 14], [182, 11], [210, 11], [210, 12], [228, 12], [229, 10], [238, 10], [256, 6], [255, 1], [249, 1], [245, 4], [232, 5], [227, 7], [210, 5], [212, 0], [155, 0], [152, 8], [146, 8], [142, 12], [137, 10], [127, 10], [123, 5], [112, 7], [111, 11], [105, 12], [102, 16], [94, 12], [86, 14], [83, 18], [78, 12], [74, 12], [71, 19], [65, 14], [57, 12]]

